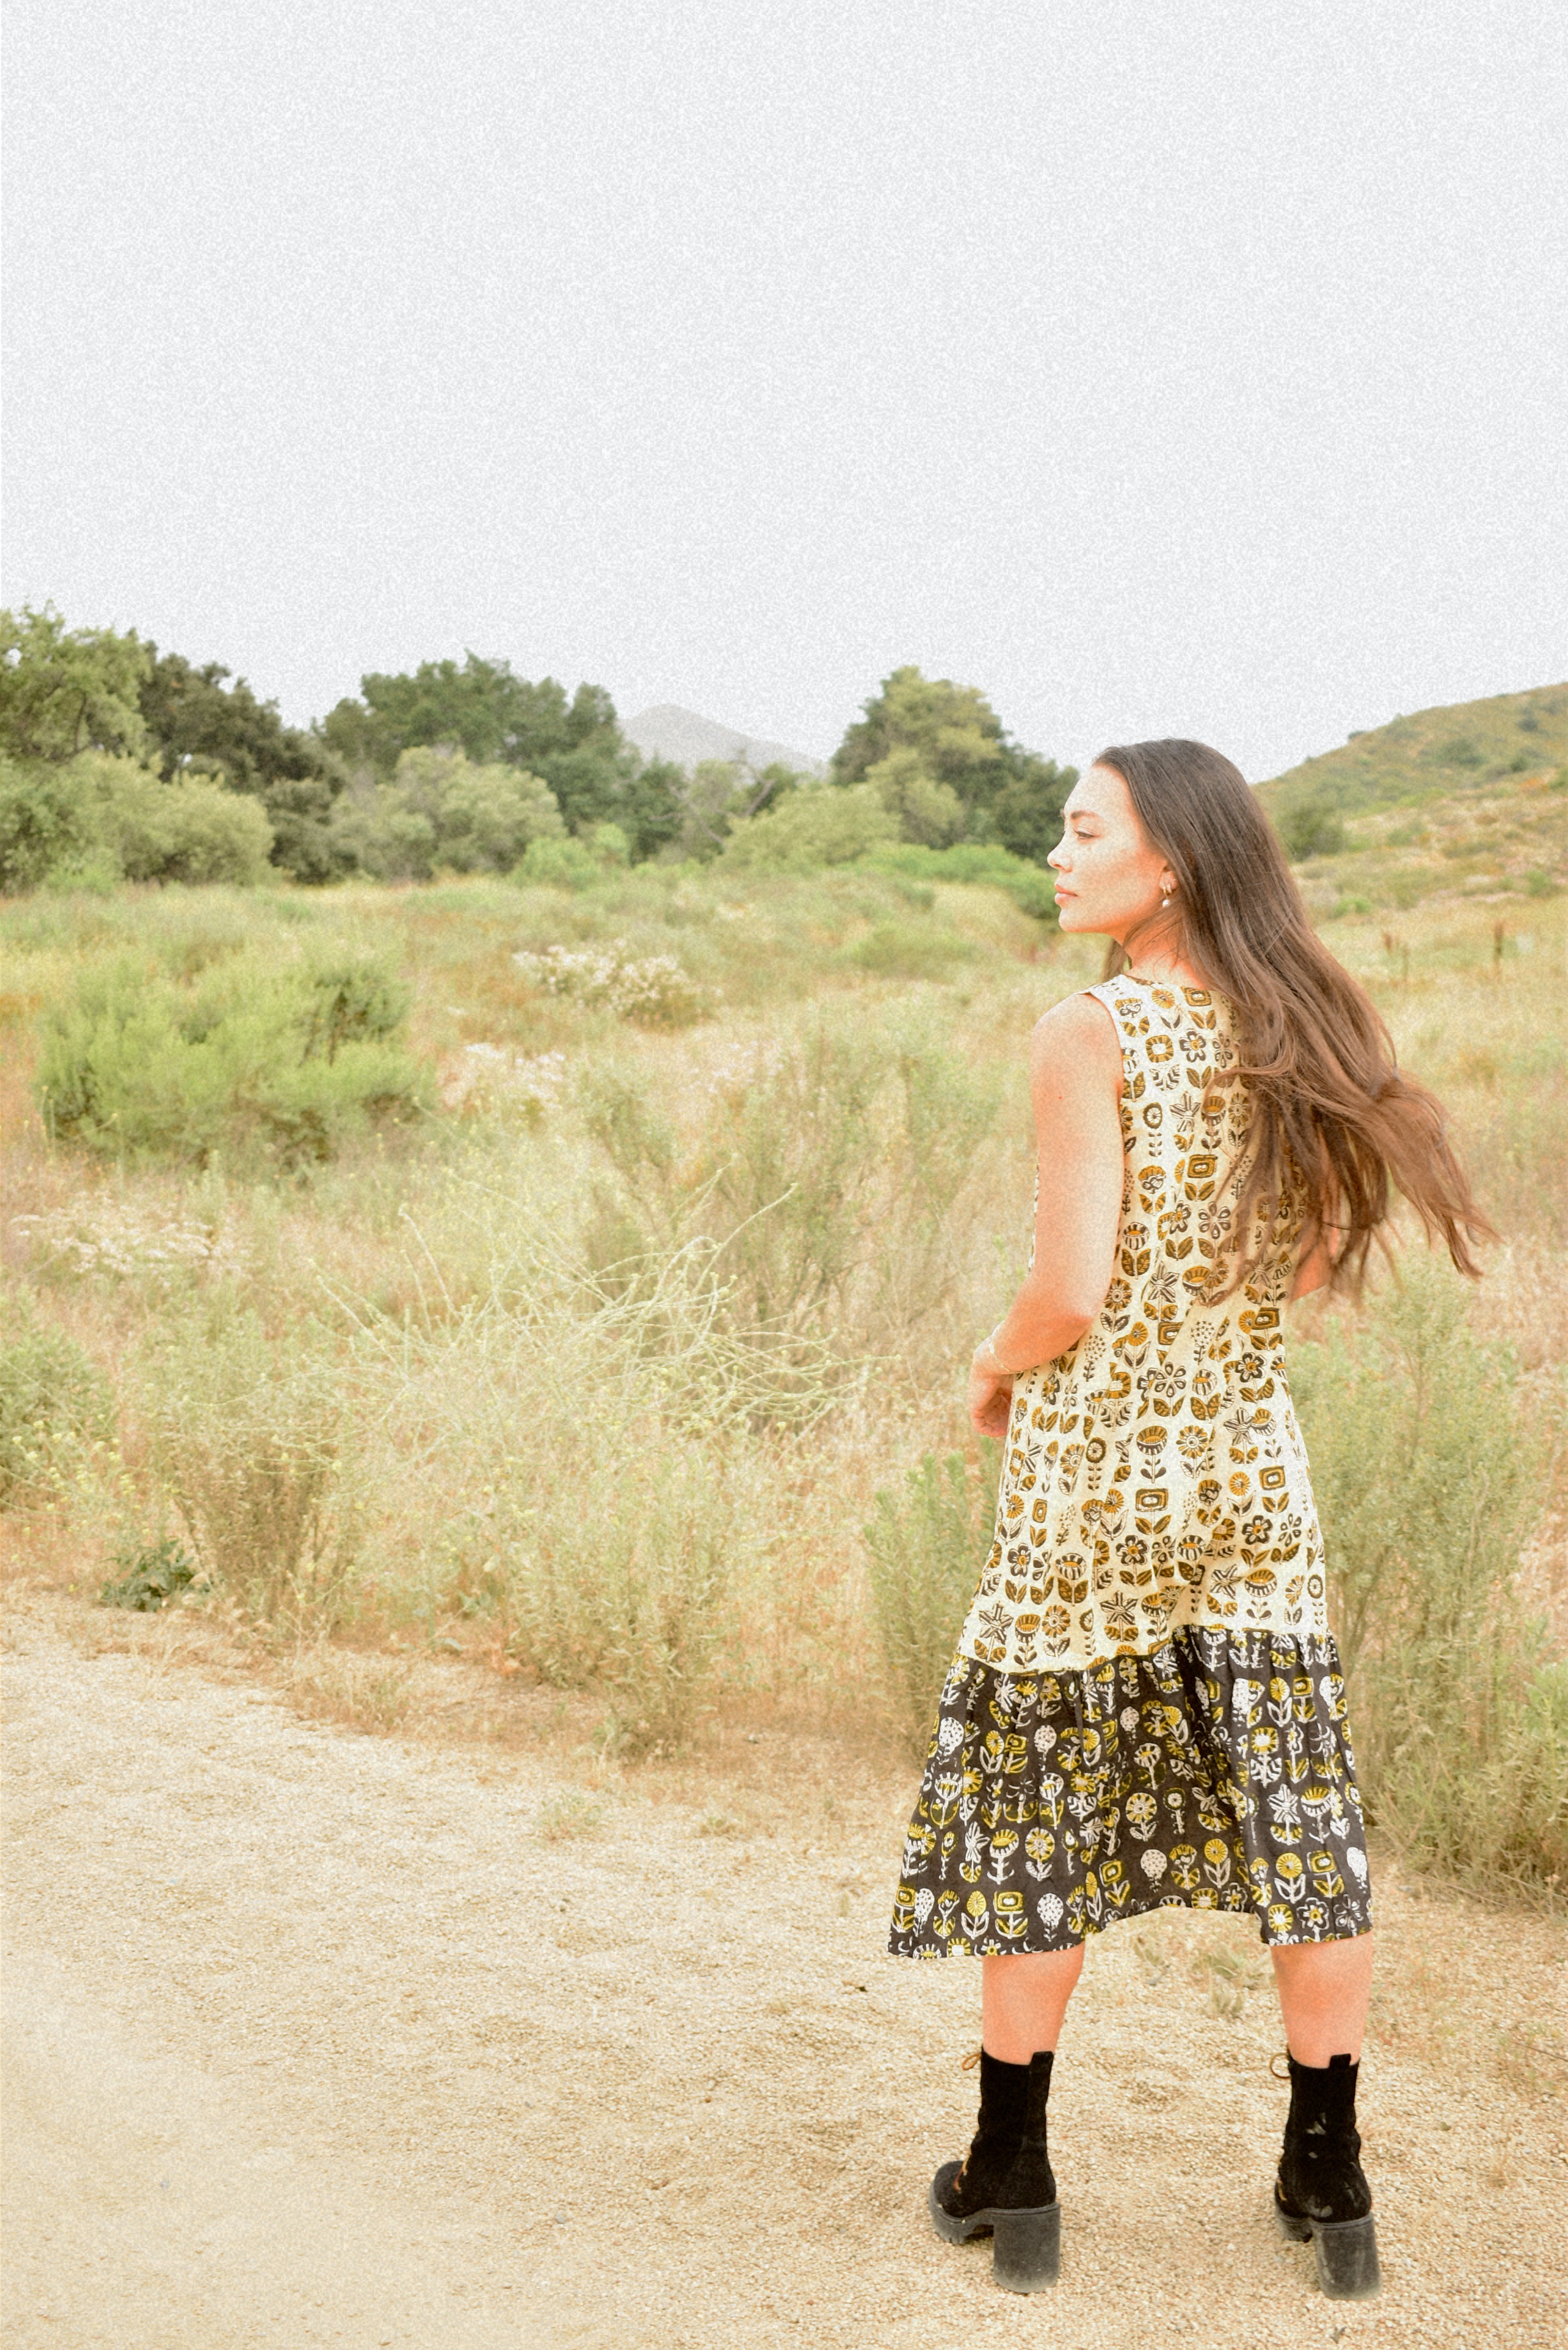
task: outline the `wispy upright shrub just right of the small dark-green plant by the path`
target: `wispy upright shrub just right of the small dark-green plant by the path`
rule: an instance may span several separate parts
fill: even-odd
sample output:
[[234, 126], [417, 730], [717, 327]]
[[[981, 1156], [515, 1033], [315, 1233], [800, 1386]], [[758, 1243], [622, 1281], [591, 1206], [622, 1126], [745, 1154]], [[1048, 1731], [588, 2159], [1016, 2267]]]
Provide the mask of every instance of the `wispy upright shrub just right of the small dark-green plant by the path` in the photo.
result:
[[259, 1622], [329, 1629], [348, 1574], [334, 1365], [219, 1295], [143, 1372], [153, 1476], [212, 1586]]

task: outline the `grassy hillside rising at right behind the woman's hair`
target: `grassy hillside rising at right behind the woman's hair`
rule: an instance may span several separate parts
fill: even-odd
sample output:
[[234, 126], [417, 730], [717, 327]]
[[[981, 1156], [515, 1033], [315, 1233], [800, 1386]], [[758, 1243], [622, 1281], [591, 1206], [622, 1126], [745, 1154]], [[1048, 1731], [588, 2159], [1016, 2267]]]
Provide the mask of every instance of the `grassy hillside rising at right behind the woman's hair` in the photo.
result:
[[1324, 912], [1549, 895], [1568, 888], [1568, 684], [1389, 719], [1258, 799]]

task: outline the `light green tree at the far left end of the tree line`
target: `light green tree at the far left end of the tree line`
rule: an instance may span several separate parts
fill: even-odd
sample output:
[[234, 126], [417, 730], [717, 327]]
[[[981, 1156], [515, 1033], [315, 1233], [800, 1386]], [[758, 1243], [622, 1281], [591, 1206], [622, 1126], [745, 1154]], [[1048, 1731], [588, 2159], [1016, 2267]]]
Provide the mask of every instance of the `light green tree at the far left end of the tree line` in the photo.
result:
[[82, 750], [139, 752], [150, 656], [134, 630], [68, 630], [52, 604], [0, 611], [0, 752], [47, 766]]

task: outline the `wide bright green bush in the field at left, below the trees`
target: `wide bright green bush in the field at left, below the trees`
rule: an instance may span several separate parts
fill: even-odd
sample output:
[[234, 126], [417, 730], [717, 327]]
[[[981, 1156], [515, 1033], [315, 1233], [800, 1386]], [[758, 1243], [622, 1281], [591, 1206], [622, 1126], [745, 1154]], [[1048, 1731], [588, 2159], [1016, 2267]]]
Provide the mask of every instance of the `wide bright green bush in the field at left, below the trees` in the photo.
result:
[[407, 1003], [376, 964], [89, 968], [45, 1015], [38, 1102], [52, 1135], [115, 1159], [327, 1161], [418, 1104]]

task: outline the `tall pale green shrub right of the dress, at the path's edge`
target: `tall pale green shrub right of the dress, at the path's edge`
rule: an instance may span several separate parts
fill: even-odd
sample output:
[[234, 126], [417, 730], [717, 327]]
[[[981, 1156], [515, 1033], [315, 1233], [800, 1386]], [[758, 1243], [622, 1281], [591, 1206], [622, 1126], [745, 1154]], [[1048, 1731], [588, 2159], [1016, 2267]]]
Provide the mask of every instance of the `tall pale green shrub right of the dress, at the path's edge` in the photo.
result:
[[1295, 1389], [1373, 1817], [1474, 1885], [1561, 1878], [1566, 1676], [1516, 1598], [1544, 1464], [1509, 1354], [1415, 1262], [1300, 1347]]

